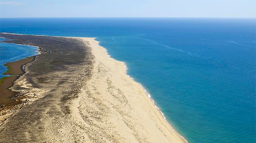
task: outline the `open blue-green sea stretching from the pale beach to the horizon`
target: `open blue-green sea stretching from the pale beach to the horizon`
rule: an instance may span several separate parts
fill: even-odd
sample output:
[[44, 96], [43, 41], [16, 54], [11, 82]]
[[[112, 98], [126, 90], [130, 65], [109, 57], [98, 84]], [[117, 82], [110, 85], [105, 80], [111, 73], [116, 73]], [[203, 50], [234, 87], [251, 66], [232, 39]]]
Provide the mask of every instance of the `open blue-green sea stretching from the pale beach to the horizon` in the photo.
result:
[[[256, 20], [1, 19], [1, 32], [98, 37], [190, 143], [256, 142]], [[1, 55], [2, 57], [2, 55]]]

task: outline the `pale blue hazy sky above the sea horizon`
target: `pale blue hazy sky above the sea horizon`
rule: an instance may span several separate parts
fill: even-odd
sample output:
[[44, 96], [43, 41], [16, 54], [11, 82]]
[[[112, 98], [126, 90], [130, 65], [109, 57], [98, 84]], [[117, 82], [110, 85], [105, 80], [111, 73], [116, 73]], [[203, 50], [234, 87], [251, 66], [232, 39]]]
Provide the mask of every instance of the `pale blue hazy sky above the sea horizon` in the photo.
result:
[[256, 17], [256, 0], [0, 0], [0, 17]]

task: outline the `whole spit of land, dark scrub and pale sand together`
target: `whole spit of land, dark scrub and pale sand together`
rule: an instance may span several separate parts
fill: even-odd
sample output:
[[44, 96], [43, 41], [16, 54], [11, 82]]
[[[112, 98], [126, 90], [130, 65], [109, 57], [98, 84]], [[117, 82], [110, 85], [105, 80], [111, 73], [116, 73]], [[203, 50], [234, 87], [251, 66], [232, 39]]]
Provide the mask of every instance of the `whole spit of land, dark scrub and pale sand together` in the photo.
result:
[[24, 102], [1, 112], [0, 142], [187, 142], [95, 38], [3, 36], [41, 54], [10, 88]]

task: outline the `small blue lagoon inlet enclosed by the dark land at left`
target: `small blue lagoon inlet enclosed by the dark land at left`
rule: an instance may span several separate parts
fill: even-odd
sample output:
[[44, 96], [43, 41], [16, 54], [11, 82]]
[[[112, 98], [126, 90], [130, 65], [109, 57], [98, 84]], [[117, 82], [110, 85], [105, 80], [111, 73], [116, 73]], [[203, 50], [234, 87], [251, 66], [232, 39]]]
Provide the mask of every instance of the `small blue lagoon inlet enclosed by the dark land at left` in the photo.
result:
[[[5, 40], [5, 38], [0, 37], [0, 41], [3, 40]], [[7, 68], [3, 66], [5, 63], [17, 61], [28, 56], [34, 56], [36, 54], [38, 54], [36, 47], [12, 43], [0, 43], [0, 73], [7, 71]], [[8, 75], [0, 74], [0, 78], [5, 76]]]

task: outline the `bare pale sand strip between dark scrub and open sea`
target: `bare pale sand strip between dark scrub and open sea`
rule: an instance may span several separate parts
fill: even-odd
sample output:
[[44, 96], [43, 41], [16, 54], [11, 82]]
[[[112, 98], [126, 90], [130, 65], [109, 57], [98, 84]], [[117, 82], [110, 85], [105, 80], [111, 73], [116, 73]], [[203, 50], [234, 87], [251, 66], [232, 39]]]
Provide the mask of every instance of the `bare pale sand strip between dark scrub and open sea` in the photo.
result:
[[73, 102], [78, 124], [91, 126], [92, 136], [108, 134], [102, 136], [105, 141], [186, 142], [164, 120], [139, 83], [126, 75], [125, 63], [110, 58], [94, 38], [81, 39], [92, 48], [95, 60], [92, 78]]

